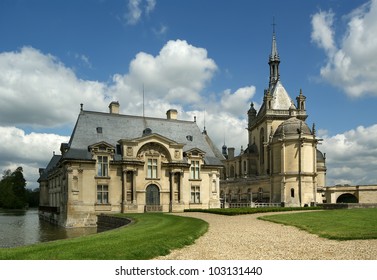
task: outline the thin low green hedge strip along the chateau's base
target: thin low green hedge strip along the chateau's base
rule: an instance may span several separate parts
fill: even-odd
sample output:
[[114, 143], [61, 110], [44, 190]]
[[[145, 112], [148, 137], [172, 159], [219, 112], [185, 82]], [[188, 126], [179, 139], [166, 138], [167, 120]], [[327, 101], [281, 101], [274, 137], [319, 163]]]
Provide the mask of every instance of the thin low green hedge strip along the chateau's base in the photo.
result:
[[218, 215], [247, 215], [267, 212], [285, 212], [285, 211], [307, 211], [307, 210], [322, 210], [321, 207], [262, 207], [262, 208], [219, 208], [219, 209], [191, 209], [185, 212], [203, 212]]

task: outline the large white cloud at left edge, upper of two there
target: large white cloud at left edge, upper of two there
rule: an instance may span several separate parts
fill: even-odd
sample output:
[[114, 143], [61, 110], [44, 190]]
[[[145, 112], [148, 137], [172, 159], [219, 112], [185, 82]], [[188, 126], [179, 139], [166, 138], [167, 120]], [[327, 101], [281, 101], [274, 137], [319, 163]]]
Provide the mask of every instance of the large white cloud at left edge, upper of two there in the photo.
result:
[[58, 127], [71, 123], [81, 102], [103, 108], [105, 86], [76, 77], [56, 57], [32, 47], [0, 53], [0, 125]]

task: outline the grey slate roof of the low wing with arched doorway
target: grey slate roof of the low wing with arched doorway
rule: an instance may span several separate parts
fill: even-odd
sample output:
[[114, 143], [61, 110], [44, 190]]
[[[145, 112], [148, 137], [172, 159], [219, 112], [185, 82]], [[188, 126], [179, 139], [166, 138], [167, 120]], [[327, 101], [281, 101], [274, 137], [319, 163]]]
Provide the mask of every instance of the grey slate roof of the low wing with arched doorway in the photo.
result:
[[[102, 132], [99, 133], [97, 128], [101, 128]], [[79, 114], [68, 143], [69, 149], [63, 158], [91, 159], [88, 146], [105, 141], [116, 147], [120, 139], [140, 138], [146, 128], [149, 128], [151, 133], [157, 133], [177, 143], [184, 144], [184, 152], [193, 148], [204, 151], [206, 164], [222, 165], [223, 155], [208, 135], [202, 134], [195, 122], [84, 110]], [[115, 160], [120, 159], [121, 155], [116, 154]]]

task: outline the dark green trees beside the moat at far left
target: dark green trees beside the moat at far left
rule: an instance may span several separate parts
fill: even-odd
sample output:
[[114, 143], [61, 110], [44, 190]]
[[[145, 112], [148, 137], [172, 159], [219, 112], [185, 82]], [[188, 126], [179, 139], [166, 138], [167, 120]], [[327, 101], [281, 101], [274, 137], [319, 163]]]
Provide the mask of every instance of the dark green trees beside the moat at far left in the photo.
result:
[[0, 181], [0, 207], [2, 208], [24, 208], [26, 201], [26, 180], [22, 167], [15, 171], [6, 170]]

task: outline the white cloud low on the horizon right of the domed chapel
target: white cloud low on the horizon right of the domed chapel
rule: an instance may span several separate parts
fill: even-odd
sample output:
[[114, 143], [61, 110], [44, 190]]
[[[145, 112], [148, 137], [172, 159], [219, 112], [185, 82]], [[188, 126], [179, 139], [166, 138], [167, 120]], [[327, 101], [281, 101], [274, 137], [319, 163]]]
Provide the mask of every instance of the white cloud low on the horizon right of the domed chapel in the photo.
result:
[[319, 149], [327, 154], [327, 184], [375, 184], [376, 137], [377, 124], [334, 136], [322, 135]]

